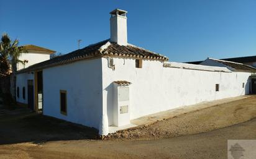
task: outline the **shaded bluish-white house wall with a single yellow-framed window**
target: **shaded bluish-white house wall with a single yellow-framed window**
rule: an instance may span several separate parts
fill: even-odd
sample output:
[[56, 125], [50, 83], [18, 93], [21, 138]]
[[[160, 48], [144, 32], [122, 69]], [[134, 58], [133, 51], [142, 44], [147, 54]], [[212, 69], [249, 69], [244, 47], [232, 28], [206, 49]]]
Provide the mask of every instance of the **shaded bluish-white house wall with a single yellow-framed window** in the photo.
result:
[[[67, 115], [60, 113], [67, 92]], [[102, 114], [101, 59], [43, 69], [43, 114], [98, 129]]]

